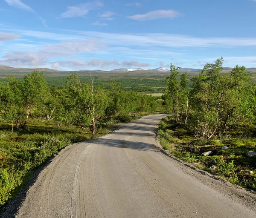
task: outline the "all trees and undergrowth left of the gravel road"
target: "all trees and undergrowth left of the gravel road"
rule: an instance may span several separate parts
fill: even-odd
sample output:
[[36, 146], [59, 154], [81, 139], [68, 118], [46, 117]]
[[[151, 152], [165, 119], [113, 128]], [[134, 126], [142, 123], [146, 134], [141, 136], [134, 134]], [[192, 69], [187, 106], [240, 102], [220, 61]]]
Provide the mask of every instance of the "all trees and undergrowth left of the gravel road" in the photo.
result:
[[160, 112], [157, 96], [82, 82], [48, 86], [43, 72], [0, 83], [0, 206], [12, 199], [38, 166], [65, 146], [105, 135], [113, 125]]

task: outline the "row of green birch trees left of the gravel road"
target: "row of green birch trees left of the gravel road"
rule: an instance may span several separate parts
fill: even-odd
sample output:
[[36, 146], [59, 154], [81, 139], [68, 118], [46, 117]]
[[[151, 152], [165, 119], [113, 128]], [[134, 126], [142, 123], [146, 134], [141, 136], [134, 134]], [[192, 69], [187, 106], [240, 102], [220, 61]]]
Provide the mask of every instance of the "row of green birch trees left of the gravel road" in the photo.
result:
[[156, 98], [123, 91], [121, 83], [111, 82], [108, 87], [81, 82], [74, 73], [66, 79], [65, 86], [47, 86], [46, 75], [34, 71], [23, 80], [7, 77], [0, 83], [0, 118], [22, 129], [35, 118], [54, 120], [62, 125], [75, 125], [88, 129], [95, 135], [102, 120], [131, 115], [134, 112], [154, 112], [159, 107]]

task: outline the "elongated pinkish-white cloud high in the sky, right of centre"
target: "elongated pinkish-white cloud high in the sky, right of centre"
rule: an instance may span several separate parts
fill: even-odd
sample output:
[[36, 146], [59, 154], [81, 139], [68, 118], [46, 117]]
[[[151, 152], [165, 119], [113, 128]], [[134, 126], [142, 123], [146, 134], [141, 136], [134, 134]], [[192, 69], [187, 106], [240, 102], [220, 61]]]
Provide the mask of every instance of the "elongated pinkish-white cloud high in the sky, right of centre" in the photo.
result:
[[157, 10], [157, 11], [150, 11], [146, 14], [136, 14], [128, 18], [132, 20], [146, 21], [146, 20], [156, 20], [160, 18], [175, 18], [175, 17], [179, 17], [180, 15], [181, 14], [179, 12], [173, 11], [173, 10]]

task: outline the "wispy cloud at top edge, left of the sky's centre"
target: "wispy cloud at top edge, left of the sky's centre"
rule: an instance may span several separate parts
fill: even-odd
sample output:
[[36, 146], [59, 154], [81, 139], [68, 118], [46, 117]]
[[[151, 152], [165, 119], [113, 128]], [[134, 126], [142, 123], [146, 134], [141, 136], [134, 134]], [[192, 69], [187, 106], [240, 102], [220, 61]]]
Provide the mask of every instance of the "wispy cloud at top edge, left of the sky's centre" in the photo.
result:
[[71, 17], [85, 17], [91, 10], [103, 7], [104, 4], [96, 0], [94, 2], [87, 2], [76, 6], [67, 6], [67, 11], [60, 15], [60, 18], [71, 18]]

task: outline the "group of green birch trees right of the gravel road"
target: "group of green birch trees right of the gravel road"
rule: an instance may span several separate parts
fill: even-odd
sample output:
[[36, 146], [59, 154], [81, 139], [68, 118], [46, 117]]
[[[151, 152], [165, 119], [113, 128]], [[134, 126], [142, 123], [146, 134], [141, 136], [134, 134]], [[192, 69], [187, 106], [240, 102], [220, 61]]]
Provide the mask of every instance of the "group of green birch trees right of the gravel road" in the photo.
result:
[[182, 123], [198, 136], [209, 140], [221, 136], [230, 125], [255, 121], [256, 86], [244, 66], [222, 74], [223, 58], [208, 63], [192, 78], [171, 64], [166, 78], [165, 100], [172, 108], [177, 125]]

